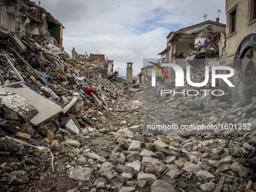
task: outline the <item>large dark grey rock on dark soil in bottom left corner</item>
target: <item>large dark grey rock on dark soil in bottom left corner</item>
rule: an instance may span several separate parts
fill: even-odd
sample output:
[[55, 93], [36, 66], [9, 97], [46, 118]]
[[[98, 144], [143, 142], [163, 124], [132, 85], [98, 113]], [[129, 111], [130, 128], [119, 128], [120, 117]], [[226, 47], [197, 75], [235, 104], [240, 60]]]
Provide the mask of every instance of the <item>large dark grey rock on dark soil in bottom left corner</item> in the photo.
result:
[[24, 170], [14, 171], [8, 176], [8, 184], [27, 184], [29, 175]]

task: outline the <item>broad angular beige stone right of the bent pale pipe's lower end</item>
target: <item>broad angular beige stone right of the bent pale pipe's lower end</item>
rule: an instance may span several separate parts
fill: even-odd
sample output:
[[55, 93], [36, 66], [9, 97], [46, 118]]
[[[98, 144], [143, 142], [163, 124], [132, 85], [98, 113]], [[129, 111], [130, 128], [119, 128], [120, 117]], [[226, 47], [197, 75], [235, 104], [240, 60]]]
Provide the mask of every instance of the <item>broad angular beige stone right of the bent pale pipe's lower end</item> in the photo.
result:
[[75, 179], [76, 181], [90, 181], [91, 175], [93, 175], [94, 169], [87, 167], [77, 167], [71, 169], [69, 172], [69, 178]]

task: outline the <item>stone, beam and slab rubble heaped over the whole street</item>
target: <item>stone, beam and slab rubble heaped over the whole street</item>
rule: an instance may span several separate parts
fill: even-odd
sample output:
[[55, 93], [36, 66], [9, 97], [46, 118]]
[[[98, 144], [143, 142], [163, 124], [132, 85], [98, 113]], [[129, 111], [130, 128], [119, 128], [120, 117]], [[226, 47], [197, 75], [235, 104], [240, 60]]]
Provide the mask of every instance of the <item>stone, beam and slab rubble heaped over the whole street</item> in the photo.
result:
[[[210, 47], [217, 46], [218, 35], [207, 34]], [[255, 98], [242, 106], [230, 102], [229, 93], [205, 96], [200, 90], [211, 90], [208, 85], [194, 88], [200, 92], [197, 97], [160, 97], [160, 90], [151, 92], [148, 84], [143, 84], [142, 94], [138, 85], [117, 83], [117, 72], [108, 74], [113, 60], [94, 61], [75, 49], [71, 59], [49, 37], [36, 41], [29, 35], [19, 37], [0, 29], [0, 190], [256, 189], [246, 161], [256, 147]], [[201, 50], [193, 49], [189, 58], [218, 53], [209, 47]], [[191, 74], [191, 81], [202, 82], [203, 66], [191, 69]], [[174, 86], [161, 85], [162, 90], [169, 87]], [[182, 90], [176, 87], [176, 91]], [[143, 97], [150, 103], [142, 106]], [[149, 112], [151, 108], [156, 111]], [[151, 117], [154, 121], [166, 117], [179, 126], [205, 123], [224, 129], [149, 131], [142, 123]], [[231, 123], [250, 123], [251, 130], [226, 129]]]

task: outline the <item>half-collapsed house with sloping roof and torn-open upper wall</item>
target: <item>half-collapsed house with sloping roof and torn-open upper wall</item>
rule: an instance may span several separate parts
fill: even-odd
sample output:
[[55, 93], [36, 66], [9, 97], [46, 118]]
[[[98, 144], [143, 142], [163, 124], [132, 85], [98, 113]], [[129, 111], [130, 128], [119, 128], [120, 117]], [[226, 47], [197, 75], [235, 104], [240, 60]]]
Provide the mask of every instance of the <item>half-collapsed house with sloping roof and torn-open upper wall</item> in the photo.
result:
[[[198, 23], [170, 32], [167, 35], [167, 47], [160, 55], [160, 62], [176, 63], [175, 59], [209, 58], [218, 56], [219, 34], [224, 32], [226, 25], [211, 20]], [[185, 68], [185, 61], [176, 63]]]

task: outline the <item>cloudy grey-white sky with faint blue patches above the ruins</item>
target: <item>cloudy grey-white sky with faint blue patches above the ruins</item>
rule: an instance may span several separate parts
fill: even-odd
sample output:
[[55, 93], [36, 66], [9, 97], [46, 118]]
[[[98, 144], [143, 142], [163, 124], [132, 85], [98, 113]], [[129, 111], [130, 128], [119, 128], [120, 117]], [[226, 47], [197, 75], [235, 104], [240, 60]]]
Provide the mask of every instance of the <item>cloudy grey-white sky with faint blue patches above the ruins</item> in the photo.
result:
[[[32, 0], [33, 2], [33, 0]], [[34, 1], [35, 2], [35, 1]], [[71, 54], [105, 54], [114, 59], [114, 70], [126, 75], [126, 62], [133, 62], [133, 76], [143, 59], [160, 58], [171, 31], [207, 20], [226, 23], [224, 0], [40, 0], [41, 7], [65, 29], [63, 47]], [[38, 2], [36, 2], [38, 4]]]

